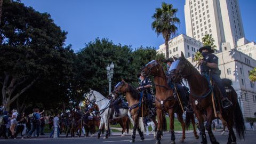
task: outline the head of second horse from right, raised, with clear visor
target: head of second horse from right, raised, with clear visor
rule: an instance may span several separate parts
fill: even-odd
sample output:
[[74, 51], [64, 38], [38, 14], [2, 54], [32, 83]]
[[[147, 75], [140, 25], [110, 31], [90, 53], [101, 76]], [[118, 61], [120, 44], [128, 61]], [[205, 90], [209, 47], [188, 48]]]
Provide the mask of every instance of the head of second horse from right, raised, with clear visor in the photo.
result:
[[157, 60], [152, 60], [140, 71], [142, 76], [160, 76], [165, 77], [163, 67], [159, 64]]

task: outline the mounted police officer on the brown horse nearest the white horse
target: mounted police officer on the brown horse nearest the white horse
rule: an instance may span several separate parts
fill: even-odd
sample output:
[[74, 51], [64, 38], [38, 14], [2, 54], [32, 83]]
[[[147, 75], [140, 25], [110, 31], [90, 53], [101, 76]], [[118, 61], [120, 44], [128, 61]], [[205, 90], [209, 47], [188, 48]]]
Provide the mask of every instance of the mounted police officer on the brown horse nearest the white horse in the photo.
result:
[[137, 90], [142, 91], [148, 101], [148, 108], [150, 109], [150, 114], [149, 114], [149, 117], [150, 117], [151, 115], [153, 115], [153, 111], [151, 109], [153, 107], [153, 101], [152, 101], [151, 91], [150, 91], [152, 87], [152, 83], [148, 77], [145, 77], [142, 75], [140, 75], [139, 79], [140, 79], [140, 83], [139, 83], [139, 87], [137, 87]]

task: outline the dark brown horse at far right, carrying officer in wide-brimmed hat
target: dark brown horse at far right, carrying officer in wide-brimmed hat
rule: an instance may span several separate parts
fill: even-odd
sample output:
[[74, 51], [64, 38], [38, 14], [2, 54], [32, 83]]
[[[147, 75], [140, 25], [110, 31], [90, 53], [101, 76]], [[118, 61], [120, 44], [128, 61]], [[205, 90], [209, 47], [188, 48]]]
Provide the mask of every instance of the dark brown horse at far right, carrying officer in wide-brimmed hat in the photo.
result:
[[[173, 62], [174, 63], [174, 62]], [[199, 121], [199, 127], [201, 129], [202, 133], [202, 143], [207, 143], [206, 140], [206, 134], [205, 134], [205, 127], [208, 131], [210, 140], [212, 143], [219, 143], [215, 139], [212, 130], [211, 130], [211, 124], [212, 120], [217, 118], [214, 116], [214, 109], [213, 109], [213, 103], [211, 99], [211, 92], [214, 92], [214, 95], [216, 95], [216, 101], [217, 101], [217, 108], [218, 111], [218, 117], [222, 119], [223, 121], [227, 122], [228, 129], [229, 129], [229, 136], [228, 136], [228, 142], [227, 143], [236, 143], [236, 136], [233, 131], [233, 125], [235, 123], [236, 132], [239, 136], [239, 138], [244, 138], [245, 133], [245, 126], [244, 126], [244, 118], [242, 115], [242, 111], [238, 105], [237, 101], [237, 94], [231, 84], [228, 85], [229, 92], [228, 99], [233, 103], [233, 106], [231, 106], [229, 109], [222, 109], [220, 103], [220, 91], [218, 89], [218, 86], [213, 84], [213, 87], [210, 85], [210, 83], [207, 81], [207, 79], [199, 74], [197, 69], [184, 57], [183, 53], [181, 53], [181, 57], [179, 60], [175, 61], [175, 63], [172, 65], [176, 65], [174, 70], [172, 71], [171, 80], [172, 81], [180, 81], [180, 78], [187, 79], [187, 82], [189, 84], [190, 88], [190, 99], [191, 103], [193, 104], [193, 108], [195, 111], [195, 114]], [[214, 103], [215, 105], [215, 103]], [[206, 126], [204, 126], [204, 118], [203, 114], [206, 115]]]

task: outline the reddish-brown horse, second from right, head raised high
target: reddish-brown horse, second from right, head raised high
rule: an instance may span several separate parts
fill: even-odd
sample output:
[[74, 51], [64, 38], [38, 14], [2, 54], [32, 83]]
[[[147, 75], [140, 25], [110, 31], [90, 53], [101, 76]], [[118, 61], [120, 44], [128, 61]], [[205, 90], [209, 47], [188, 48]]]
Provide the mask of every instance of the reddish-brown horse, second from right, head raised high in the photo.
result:
[[[170, 116], [170, 130], [171, 130], [171, 143], [175, 143], [174, 135], [174, 113], [177, 114], [178, 120], [182, 127], [182, 138], [181, 142], [185, 140], [185, 123], [183, 122], [183, 112], [178, 104], [178, 100], [174, 98], [173, 90], [167, 84], [167, 77], [164, 73], [163, 67], [158, 63], [158, 61], [153, 60], [149, 62], [145, 68], [141, 70], [141, 75], [143, 76], [154, 76], [154, 83], [156, 87], [156, 107], [157, 107], [157, 119], [158, 119], [158, 129], [156, 143], [160, 143], [161, 140], [161, 127], [163, 122], [164, 111], [169, 113]], [[194, 135], [198, 139], [198, 135], [195, 128], [195, 119], [193, 114], [187, 114], [186, 119], [191, 119], [194, 128]]]

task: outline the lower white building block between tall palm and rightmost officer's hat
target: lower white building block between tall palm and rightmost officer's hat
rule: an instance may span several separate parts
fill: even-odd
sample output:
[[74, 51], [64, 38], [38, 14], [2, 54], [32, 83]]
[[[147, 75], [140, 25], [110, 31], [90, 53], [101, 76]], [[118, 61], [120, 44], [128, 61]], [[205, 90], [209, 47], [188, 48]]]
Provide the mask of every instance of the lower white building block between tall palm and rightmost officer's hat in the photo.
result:
[[[181, 52], [185, 54], [186, 58], [188, 57], [194, 58], [195, 53], [198, 51], [200, 47], [203, 46], [201, 42], [197, 41], [194, 38], [186, 36], [184, 34], [174, 37], [168, 43], [169, 43], [170, 58], [172, 58], [172, 56], [179, 58]], [[165, 44], [160, 45], [157, 52], [163, 53], [164, 55], [166, 55]]]

